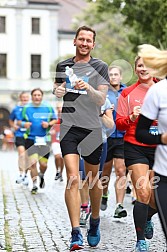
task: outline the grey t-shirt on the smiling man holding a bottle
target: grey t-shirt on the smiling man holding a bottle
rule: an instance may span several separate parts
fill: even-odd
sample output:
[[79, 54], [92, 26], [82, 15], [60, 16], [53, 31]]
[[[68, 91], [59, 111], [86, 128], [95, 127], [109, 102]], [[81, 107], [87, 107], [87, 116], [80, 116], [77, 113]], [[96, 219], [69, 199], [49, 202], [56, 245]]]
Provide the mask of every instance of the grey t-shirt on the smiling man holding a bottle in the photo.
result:
[[99, 85], [109, 86], [108, 66], [103, 61], [91, 58], [88, 63], [75, 63], [73, 58], [58, 63], [56, 68], [56, 83], [66, 81], [66, 94], [63, 97], [62, 124], [86, 129], [101, 127], [99, 118], [100, 107], [91, 100], [86, 90], [76, 90], [70, 87], [70, 81], [65, 74], [65, 67], [73, 69], [78, 78], [82, 78], [97, 90]]

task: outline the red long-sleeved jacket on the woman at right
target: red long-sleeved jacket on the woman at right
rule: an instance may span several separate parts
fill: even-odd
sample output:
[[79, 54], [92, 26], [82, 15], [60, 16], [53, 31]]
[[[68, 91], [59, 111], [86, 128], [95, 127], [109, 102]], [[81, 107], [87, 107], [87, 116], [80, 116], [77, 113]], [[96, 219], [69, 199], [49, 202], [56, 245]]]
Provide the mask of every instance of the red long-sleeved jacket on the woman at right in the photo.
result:
[[135, 106], [141, 106], [143, 104], [143, 99], [148, 89], [149, 86], [147, 84], [137, 81], [135, 84], [125, 88], [122, 91], [118, 99], [116, 127], [118, 130], [126, 131], [124, 135], [124, 141], [140, 146], [155, 147], [155, 145], [143, 144], [136, 140], [135, 131], [138, 118], [132, 122], [129, 117], [133, 113], [133, 108]]

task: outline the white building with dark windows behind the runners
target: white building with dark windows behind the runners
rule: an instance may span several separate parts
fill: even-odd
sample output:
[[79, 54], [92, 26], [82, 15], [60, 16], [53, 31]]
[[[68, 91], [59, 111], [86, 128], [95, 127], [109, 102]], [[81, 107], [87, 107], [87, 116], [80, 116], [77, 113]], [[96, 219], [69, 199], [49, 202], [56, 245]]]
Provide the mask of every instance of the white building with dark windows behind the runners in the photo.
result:
[[18, 92], [40, 87], [51, 95], [51, 64], [74, 54], [71, 24], [84, 0], [0, 0], [0, 130]]

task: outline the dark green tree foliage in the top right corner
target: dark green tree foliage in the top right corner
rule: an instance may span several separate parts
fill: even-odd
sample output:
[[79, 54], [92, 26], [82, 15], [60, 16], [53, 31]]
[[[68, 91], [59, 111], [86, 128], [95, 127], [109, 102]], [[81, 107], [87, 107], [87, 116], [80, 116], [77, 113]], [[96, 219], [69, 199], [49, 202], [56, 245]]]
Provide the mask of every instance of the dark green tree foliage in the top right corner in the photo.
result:
[[[92, 0], [87, 0], [92, 2]], [[121, 13], [124, 24], [131, 29], [128, 38], [137, 46], [149, 43], [167, 48], [167, 1], [166, 0], [94, 0], [98, 15], [102, 13]], [[135, 31], [135, 32], [134, 32]]]

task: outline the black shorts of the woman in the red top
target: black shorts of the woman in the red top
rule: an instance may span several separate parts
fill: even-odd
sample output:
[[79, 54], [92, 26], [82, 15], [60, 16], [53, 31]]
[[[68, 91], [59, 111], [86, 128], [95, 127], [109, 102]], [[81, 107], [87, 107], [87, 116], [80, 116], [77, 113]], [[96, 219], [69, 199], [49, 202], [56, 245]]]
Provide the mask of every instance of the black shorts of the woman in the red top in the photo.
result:
[[146, 164], [152, 169], [155, 148], [124, 142], [125, 165]]

